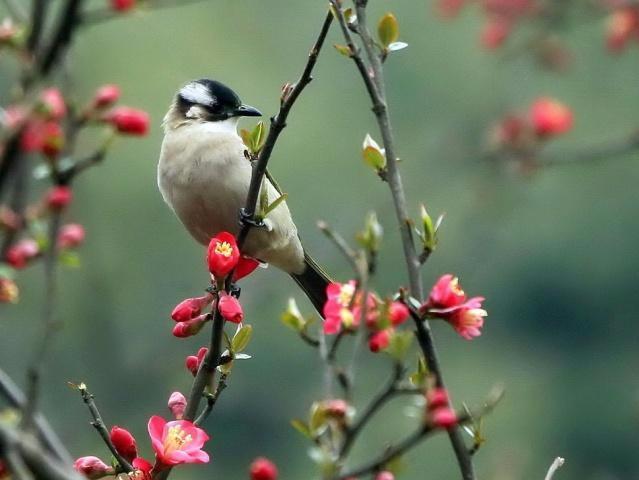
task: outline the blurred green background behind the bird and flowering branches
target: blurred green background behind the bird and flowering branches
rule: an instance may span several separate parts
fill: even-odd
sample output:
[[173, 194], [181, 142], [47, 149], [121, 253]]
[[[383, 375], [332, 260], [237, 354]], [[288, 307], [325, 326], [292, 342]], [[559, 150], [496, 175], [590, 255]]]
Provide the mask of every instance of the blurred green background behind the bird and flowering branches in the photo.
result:
[[[74, 455], [106, 458], [107, 451], [66, 381], [87, 382], [105, 420], [129, 428], [150, 457], [146, 422], [153, 414], [168, 416], [172, 391], [186, 393], [191, 377], [184, 357], [205, 342], [170, 334], [172, 307], [207, 281], [203, 248], [156, 187], [160, 124], [172, 95], [189, 79], [212, 77], [274, 113], [281, 85], [301, 71], [324, 9], [324, 2], [210, 1], [127, 15], [78, 37], [70, 63], [76, 97], [117, 83], [124, 103], [150, 112], [153, 128], [144, 139], [118, 141], [104, 165], [78, 182], [68, 213], [88, 237], [82, 268], [60, 275], [65, 329], [47, 365], [43, 409]], [[549, 153], [629, 133], [639, 111], [639, 48], [613, 57], [603, 47], [602, 22], [579, 23], [565, 35], [574, 65], [558, 75], [529, 58], [504, 61], [482, 51], [476, 11], [447, 23], [425, 1], [376, 1], [371, 17], [387, 10], [396, 13], [410, 45], [392, 55], [387, 77], [411, 211], [417, 215], [425, 202], [433, 214], [446, 212], [425, 283], [453, 272], [469, 294], [487, 298], [489, 317], [475, 341], [434, 325], [445, 377], [457, 404], [481, 401], [496, 382], [507, 391], [487, 421], [488, 443], [476, 457], [479, 478], [540, 479], [557, 455], [567, 459], [558, 479], [639, 478], [639, 158], [556, 167], [530, 178], [478, 160], [490, 122], [541, 94], [569, 104], [576, 118]], [[316, 221], [352, 238], [365, 214], [378, 212], [386, 237], [374, 283], [390, 292], [406, 282], [396, 222], [386, 185], [360, 158], [364, 135], [378, 135], [353, 65], [331, 48], [340, 42], [332, 31], [271, 169], [289, 194], [307, 248], [337, 279], [350, 272]], [[10, 81], [10, 75], [0, 79], [4, 87]], [[0, 306], [0, 365], [19, 380], [40, 325], [41, 276], [41, 265], [21, 274], [21, 303]], [[315, 352], [279, 321], [293, 292], [294, 284], [274, 269], [244, 282], [254, 359], [236, 366], [208, 422], [212, 462], [180, 468], [176, 478], [247, 478], [257, 455], [271, 457], [283, 479], [316, 477], [309, 445], [289, 426], [322, 395]], [[387, 369], [378, 356], [361, 357], [357, 405]], [[411, 428], [404, 407], [398, 400], [378, 417], [355, 459]], [[399, 478], [458, 478], [445, 436], [408, 460]]]

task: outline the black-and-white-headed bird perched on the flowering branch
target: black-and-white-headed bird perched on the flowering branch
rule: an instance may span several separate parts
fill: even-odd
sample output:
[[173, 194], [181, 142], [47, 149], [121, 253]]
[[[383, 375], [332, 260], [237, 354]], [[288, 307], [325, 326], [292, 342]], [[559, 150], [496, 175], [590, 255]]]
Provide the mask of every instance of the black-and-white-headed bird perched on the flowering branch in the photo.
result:
[[[237, 133], [242, 117], [261, 112], [245, 105], [223, 83], [192, 80], [175, 94], [162, 123], [164, 139], [157, 169], [158, 187], [191, 236], [208, 245], [221, 231], [237, 237], [252, 166]], [[270, 178], [262, 188], [272, 203], [280, 197]], [[251, 228], [242, 254], [288, 273], [322, 314], [328, 275], [304, 250], [286, 201]]]

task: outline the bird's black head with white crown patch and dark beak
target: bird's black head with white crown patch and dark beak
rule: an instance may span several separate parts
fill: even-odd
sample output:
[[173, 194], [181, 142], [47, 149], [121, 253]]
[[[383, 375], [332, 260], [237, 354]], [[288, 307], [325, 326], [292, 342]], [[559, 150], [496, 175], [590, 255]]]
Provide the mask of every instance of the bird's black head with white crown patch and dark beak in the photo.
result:
[[189, 120], [200, 122], [237, 121], [239, 117], [260, 117], [262, 113], [244, 105], [240, 97], [223, 83], [206, 78], [185, 84], [175, 95], [165, 124], [171, 126]]

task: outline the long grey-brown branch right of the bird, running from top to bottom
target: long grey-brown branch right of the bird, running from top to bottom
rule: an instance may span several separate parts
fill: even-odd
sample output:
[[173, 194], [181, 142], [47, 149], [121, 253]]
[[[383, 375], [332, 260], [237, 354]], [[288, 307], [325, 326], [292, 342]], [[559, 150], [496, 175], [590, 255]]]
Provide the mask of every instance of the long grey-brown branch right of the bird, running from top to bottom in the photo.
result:
[[[392, 125], [390, 115], [386, 105], [385, 86], [384, 86], [384, 70], [382, 67], [382, 60], [375, 50], [375, 42], [372, 39], [368, 27], [366, 25], [366, 0], [354, 0], [355, 9], [357, 13], [357, 32], [359, 33], [364, 49], [368, 56], [369, 68], [366, 67], [359, 49], [355, 46], [352, 35], [348, 26], [344, 14], [340, 9], [339, 2], [337, 0], [331, 0], [334, 12], [337, 15], [340, 27], [344, 38], [351, 49], [351, 58], [355, 62], [366, 89], [369, 93], [375, 118], [382, 136], [384, 149], [386, 152], [387, 162], [387, 174], [386, 182], [391, 191], [393, 198], [393, 204], [395, 207], [395, 216], [399, 224], [399, 229], [402, 238], [402, 248], [404, 251], [404, 260], [406, 262], [406, 269], [408, 272], [408, 280], [410, 286], [410, 293], [413, 297], [421, 300], [423, 297], [422, 279], [420, 276], [420, 259], [413, 243], [413, 236], [411, 232], [411, 221], [408, 215], [408, 209], [406, 206], [406, 195], [404, 193], [404, 187], [402, 183], [402, 177], [399, 172], [398, 157], [396, 155], [395, 142], [392, 133]], [[371, 79], [372, 76], [372, 79]], [[444, 381], [441, 374], [441, 368], [437, 358], [437, 352], [430, 332], [430, 327], [426, 321], [415, 321], [416, 334], [418, 338], [421, 337], [420, 347], [424, 352], [424, 356], [430, 360], [429, 366], [437, 377], [437, 383], [441, 386], [444, 385]], [[461, 435], [461, 431], [458, 427], [454, 427], [449, 430], [450, 441], [457, 457], [457, 463], [459, 464], [462, 478], [464, 480], [474, 480], [475, 473], [473, 469], [471, 456], [468, 454], [468, 449], [464, 443]]]

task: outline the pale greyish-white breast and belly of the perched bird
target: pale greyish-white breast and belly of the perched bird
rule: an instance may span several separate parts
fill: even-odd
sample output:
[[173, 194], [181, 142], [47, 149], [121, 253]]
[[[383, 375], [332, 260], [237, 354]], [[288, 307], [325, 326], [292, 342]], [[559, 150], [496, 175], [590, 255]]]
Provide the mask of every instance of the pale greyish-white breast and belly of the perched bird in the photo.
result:
[[[164, 200], [202, 244], [222, 230], [237, 234], [238, 212], [246, 201], [251, 165], [236, 133], [236, 119], [224, 122], [186, 122], [166, 128], [158, 185]], [[268, 197], [278, 197], [268, 184]], [[245, 252], [288, 271], [304, 268], [304, 253], [283, 202], [268, 217], [271, 231], [253, 229]]]

